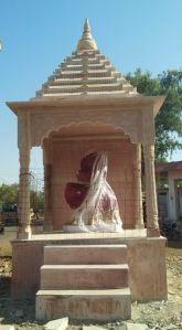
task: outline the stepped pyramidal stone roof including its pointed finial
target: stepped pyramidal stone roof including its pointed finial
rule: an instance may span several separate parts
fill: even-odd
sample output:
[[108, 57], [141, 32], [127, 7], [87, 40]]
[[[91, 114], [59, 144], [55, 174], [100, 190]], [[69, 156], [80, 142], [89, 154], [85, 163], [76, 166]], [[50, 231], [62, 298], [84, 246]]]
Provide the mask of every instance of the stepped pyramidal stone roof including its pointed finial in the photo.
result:
[[137, 89], [97, 49], [86, 19], [76, 51], [54, 71], [33, 99], [76, 95], [137, 96]]

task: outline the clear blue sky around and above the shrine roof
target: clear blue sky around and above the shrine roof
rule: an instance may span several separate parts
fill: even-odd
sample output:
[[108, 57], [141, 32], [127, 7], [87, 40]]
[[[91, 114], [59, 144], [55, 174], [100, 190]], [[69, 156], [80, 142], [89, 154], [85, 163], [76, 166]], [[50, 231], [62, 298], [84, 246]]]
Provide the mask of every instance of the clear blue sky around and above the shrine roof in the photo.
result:
[[[6, 102], [34, 97], [76, 49], [88, 18], [98, 49], [124, 75], [182, 68], [182, 0], [0, 0], [0, 184], [18, 182], [17, 117]], [[31, 168], [41, 171], [33, 148]], [[170, 160], [182, 160], [182, 152]], [[35, 170], [36, 171], [36, 170]]]

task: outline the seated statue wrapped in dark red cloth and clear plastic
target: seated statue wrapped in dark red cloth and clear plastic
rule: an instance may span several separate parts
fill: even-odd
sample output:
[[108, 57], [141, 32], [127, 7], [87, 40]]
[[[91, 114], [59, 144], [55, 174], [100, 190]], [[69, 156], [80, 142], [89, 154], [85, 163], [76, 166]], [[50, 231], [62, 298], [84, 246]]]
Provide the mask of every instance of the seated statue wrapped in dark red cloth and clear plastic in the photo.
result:
[[65, 199], [75, 210], [68, 231], [121, 232], [116, 195], [107, 182], [106, 152], [92, 152], [81, 160], [77, 182], [68, 182]]

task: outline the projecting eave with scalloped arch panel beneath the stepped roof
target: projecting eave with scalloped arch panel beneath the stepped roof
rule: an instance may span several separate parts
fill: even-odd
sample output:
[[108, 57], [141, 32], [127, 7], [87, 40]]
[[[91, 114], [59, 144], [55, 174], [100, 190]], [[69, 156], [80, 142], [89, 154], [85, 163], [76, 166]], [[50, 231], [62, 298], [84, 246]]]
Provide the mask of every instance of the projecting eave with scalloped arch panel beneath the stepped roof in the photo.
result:
[[[132, 142], [154, 143], [153, 107], [160, 97], [75, 97], [9, 103], [19, 117], [19, 147], [41, 146], [50, 132], [83, 123], [124, 129]], [[30, 119], [29, 119], [30, 118]]]

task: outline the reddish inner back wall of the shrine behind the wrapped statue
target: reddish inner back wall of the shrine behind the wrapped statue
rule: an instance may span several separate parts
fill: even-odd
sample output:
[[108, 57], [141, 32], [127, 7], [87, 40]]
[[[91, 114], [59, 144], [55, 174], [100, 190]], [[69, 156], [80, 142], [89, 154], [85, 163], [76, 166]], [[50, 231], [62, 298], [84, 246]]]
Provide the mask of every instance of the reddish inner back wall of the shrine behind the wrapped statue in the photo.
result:
[[141, 216], [138, 195], [137, 147], [121, 128], [100, 123], [63, 126], [43, 140], [45, 171], [45, 230], [61, 231], [71, 221], [73, 210], [64, 191], [67, 182], [76, 181], [81, 159], [89, 151], [108, 156], [108, 182], [119, 204], [124, 228], [136, 228]]

